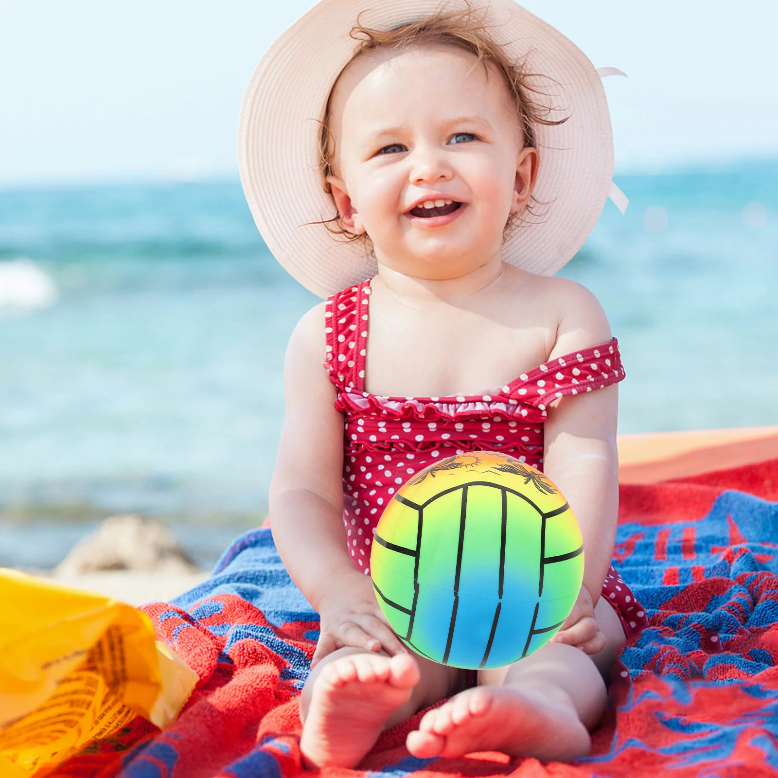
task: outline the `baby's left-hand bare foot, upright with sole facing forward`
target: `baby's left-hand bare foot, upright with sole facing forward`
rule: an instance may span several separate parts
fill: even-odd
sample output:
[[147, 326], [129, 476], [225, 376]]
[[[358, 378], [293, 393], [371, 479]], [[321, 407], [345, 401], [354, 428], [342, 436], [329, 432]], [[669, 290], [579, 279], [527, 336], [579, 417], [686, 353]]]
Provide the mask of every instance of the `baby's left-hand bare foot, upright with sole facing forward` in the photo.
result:
[[307, 767], [354, 767], [388, 717], [410, 699], [419, 665], [408, 654], [350, 654], [321, 670], [300, 738]]

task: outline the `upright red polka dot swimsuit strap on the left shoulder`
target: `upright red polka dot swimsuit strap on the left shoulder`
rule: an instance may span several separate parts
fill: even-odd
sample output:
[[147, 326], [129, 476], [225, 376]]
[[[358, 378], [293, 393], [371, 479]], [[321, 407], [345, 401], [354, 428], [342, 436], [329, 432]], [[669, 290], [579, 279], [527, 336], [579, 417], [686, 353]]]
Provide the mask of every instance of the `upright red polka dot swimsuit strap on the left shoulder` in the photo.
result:
[[364, 391], [370, 279], [349, 286], [324, 303], [324, 333], [330, 380], [338, 391]]

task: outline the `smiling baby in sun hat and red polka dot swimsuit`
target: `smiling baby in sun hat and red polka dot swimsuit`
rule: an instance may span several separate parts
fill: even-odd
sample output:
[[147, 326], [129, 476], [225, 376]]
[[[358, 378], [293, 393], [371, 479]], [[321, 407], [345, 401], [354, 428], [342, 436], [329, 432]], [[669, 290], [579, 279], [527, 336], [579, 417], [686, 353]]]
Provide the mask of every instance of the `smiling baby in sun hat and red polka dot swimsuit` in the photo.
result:
[[[499, 750], [576, 759], [605, 709], [604, 678], [645, 623], [610, 566], [618, 345], [587, 289], [540, 275], [575, 253], [605, 202], [612, 156], [599, 79], [511, 0], [489, 9], [377, 0], [364, 4], [387, 19], [374, 28], [360, 5], [324, 0], [275, 48], [325, 61], [335, 34], [352, 34], [352, 57], [317, 98], [326, 105], [319, 162], [337, 215], [298, 223], [290, 236], [279, 201], [293, 208], [310, 195], [286, 181], [268, 202], [256, 183], [264, 173], [254, 176], [251, 160], [243, 170], [276, 256], [330, 294], [289, 342], [270, 493], [279, 553], [321, 614], [300, 702], [303, 756], [308, 766], [356, 766], [382, 731], [429, 708], [407, 738], [420, 758]], [[490, 26], [497, 12], [502, 21]], [[492, 29], [508, 42], [497, 44]], [[518, 40], [541, 63], [547, 48], [561, 51], [588, 74], [583, 86], [571, 78], [562, 97], [544, 95], [511, 53]], [[294, 68], [291, 58], [273, 67]], [[261, 91], [272, 70], [258, 73]], [[308, 76], [315, 81], [315, 69]], [[244, 108], [245, 138], [261, 121], [254, 115]], [[552, 135], [566, 119], [578, 124]], [[251, 156], [251, 142], [243, 148]], [[303, 255], [304, 230], [329, 244]], [[477, 673], [408, 650], [370, 580], [374, 527], [399, 485], [470, 450], [542, 468], [573, 507], [586, 548], [584, 585], [559, 633], [521, 661]]]

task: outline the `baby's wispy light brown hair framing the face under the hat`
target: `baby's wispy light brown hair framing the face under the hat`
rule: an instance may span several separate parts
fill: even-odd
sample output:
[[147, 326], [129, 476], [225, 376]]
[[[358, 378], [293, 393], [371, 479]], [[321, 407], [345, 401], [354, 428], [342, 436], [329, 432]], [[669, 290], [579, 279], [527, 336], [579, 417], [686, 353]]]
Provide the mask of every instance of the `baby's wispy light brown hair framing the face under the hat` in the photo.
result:
[[[537, 148], [537, 142], [534, 133], [534, 125], [545, 124], [553, 126], [563, 124], [567, 117], [562, 119], [552, 119], [550, 114], [552, 108], [549, 108], [532, 99], [533, 95], [540, 94], [533, 81], [537, 79], [538, 74], [527, 72], [524, 61], [513, 61], [506, 54], [504, 48], [497, 44], [489, 34], [489, 27], [480, 19], [471, 9], [469, 2], [465, 3], [464, 9], [456, 11], [447, 11], [444, 7], [434, 13], [432, 16], [426, 16], [415, 22], [409, 22], [394, 27], [391, 30], [374, 30], [371, 27], [364, 26], [357, 19], [356, 25], [351, 30], [351, 37], [356, 40], [354, 54], [349, 62], [342, 69], [341, 74], [346, 68], [359, 56], [377, 51], [394, 50], [423, 47], [423, 46], [450, 46], [461, 51], [467, 51], [475, 54], [476, 64], [491, 67], [496, 70], [505, 83], [510, 94], [513, 108], [519, 120], [522, 141], [525, 146]], [[335, 157], [335, 138], [330, 129], [330, 111], [332, 95], [335, 92], [335, 86], [340, 79], [335, 79], [327, 100], [327, 107], [324, 110], [324, 119], [321, 121], [320, 142], [320, 170], [324, 183], [324, 191], [331, 194], [331, 188], [327, 182], [327, 177], [335, 173], [333, 160]], [[532, 216], [538, 216], [535, 209], [540, 203], [534, 197], [530, 198], [527, 204], [527, 211]], [[505, 228], [505, 234], [510, 233], [522, 221], [520, 213], [513, 213], [508, 219]], [[369, 241], [366, 235], [355, 235], [345, 230], [340, 221], [340, 216], [336, 214], [331, 219], [325, 219], [321, 224], [335, 235], [344, 240]]]

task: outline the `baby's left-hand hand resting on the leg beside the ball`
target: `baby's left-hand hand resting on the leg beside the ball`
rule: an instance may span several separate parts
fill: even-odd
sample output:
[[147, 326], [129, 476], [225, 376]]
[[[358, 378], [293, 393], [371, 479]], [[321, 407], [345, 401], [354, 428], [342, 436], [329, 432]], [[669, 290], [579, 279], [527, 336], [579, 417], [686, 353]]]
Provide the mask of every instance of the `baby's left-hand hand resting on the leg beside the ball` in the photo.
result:
[[370, 651], [384, 649], [391, 656], [407, 653], [378, 607], [370, 576], [356, 569], [328, 581], [328, 589], [319, 601], [319, 611], [321, 632], [311, 668], [344, 646]]

